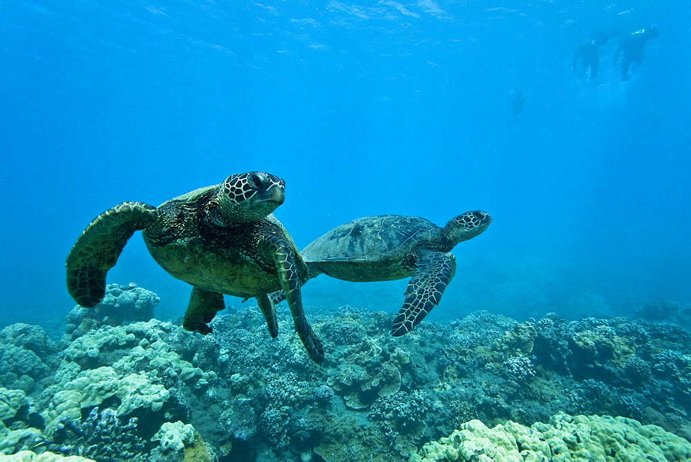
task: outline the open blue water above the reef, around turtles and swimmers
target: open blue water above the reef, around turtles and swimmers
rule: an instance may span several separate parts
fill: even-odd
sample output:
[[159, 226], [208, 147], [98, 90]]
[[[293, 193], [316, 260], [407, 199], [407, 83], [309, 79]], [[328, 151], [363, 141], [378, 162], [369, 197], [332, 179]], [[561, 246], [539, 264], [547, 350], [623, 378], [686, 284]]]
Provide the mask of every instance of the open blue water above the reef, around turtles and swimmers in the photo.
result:
[[[310, 3], [0, 3], [3, 324], [64, 318], [64, 259], [103, 210], [251, 170], [285, 179], [299, 247], [360, 216], [490, 212], [428, 319], [691, 302], [687, 3]], [[621, 82], [618, 39], [650, 24]], [[589, 81], [571, 58], [603, 29]], [[187, 304], [138, 236], [108, 281], [158, 293], [160, 317]], [[394, 312], [405, 284], [303, 296]]]

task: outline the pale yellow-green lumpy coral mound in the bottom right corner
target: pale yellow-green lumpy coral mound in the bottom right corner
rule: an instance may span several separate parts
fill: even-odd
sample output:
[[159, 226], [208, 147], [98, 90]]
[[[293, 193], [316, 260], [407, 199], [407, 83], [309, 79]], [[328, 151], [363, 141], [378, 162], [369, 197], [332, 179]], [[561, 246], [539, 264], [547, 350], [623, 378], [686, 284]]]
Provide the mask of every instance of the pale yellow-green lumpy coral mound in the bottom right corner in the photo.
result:
[[691, 443], [656, 425], [611, 416], [557, 414], [525, 427], [473, 420], [427, 443], [411, 461], [686, 461]]

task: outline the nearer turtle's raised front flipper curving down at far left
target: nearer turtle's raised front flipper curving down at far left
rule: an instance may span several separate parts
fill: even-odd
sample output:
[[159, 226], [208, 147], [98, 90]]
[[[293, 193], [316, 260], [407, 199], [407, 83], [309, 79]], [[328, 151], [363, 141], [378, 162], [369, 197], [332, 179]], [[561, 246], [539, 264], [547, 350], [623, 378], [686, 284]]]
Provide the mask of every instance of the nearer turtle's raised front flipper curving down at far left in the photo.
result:
[[93, 308], [106, 295], [106, 272], [135, 231], [158, 218], [156, 207], [123, 202], [106, 210], [86, 227], [67, 256], [67, 290], [81, 306]]

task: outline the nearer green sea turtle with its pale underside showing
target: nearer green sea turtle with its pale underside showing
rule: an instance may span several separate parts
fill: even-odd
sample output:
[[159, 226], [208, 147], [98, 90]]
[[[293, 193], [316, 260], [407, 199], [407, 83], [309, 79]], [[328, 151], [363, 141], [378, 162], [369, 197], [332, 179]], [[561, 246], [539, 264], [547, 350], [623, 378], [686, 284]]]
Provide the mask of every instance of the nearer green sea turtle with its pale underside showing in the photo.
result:
[[142, 230], [155, 261], [193, 286], [182, 325], [211, 332], [208, 322], [223, 310], [223, 294], [255, 297], [272, 337], [276, 310], [268, 293], [283, 290], [295, 329], [315, 362], [323, 347], [303, 312], [301, 280], [307, 266], [290, 234], [272, 215], [283, 203], [285, 182], [265, 172], [231, 175], [220, 185], [182, 194], [158, 207], [123, 202], [97, 216], [67, 257], [67, 288], [82, 306], [105, 295], [106, 272], [127, 240]]

